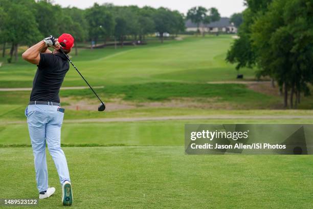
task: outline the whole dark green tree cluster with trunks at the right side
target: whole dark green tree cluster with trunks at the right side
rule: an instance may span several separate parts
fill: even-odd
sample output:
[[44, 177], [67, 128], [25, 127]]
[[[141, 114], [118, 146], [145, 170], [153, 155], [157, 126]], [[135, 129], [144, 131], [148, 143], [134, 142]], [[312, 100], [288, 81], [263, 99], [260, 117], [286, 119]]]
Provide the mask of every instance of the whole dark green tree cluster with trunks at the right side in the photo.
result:
[[[236, 69], [257, 67], [257, 76], [275, 80], [284, 107], [297, 108], [313, 82], [313, 4], [311, 0], [245, 0], [239, 38], [227, 60]], [[289, 101], [289, 102], [288, 102]]]

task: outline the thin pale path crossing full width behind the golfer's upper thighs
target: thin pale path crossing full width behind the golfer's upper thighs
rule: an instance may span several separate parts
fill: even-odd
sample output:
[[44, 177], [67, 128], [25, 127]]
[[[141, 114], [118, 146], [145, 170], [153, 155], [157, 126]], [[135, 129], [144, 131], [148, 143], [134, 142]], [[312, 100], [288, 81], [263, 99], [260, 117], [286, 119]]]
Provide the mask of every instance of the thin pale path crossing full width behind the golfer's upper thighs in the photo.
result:
[[[183, 115], [183, 116], [161, 116], [161, 117], [127, 117], [127, 118], [89, 118], [89, 119], [65, 119], [63, 123], [84, 122], [135, 122], [135, 121], [163, 121], [163, 120], [195, 120], [195, 119], [313, 119], [313, 115]], [[2, 121], [0, 124], [26, 123], [26, 120]]]

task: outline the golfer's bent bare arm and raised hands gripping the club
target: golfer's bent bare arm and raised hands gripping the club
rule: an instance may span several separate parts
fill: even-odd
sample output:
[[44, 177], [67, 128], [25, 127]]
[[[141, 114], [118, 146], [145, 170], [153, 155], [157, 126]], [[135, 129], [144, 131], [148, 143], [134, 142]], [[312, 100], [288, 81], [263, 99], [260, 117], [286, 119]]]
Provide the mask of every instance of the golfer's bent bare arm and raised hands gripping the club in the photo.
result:
[[61, 46], [58, 43], [58, 39], [55, 39], [53, 36], [50, 36], [48, 38], [44, 38], [34, 46], [30, 47], [22, 54], [22, 57], [26, 61], [38, 65], [40, 61], [40, 53], [49, 53], [49, 52], [51, 53], [51, 51], [48, 50], [48, 47], [53, 47], [59, 50]]

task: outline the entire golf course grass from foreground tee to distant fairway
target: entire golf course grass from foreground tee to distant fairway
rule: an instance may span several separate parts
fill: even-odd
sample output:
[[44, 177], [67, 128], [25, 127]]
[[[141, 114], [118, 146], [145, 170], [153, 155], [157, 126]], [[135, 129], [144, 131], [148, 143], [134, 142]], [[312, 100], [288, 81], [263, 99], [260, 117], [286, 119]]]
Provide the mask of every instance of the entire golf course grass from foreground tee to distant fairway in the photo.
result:
[[[313, 207], [310, 155], [184, 153], [186, 123], [313, 121], [312, 96], [302, 97], [298, 110], [287, 110], [278, 87], [266, 86], [267, 78], [259, 86], [254, 69], [241, 69], [244, 77], [238, 82], [234, 65], [225, 61], [232, 42], [231, 35], [186, 35], [164, 44], [151, 40], [71, 53], [108, 106], [98, 112], [90, 89], [60, 91], [65, 107], [61, 143], [75, 208]], [[5, 58], [0, 62], [0, 198], [37, 198], [24, 115], [36, 67], [21, 57], [12, 64]], [[85, 86], [71, 67], [62, 87]], [[49, 185], [57, 190], [39, 206], [61, 207], [50, 156], [48, 170]]]

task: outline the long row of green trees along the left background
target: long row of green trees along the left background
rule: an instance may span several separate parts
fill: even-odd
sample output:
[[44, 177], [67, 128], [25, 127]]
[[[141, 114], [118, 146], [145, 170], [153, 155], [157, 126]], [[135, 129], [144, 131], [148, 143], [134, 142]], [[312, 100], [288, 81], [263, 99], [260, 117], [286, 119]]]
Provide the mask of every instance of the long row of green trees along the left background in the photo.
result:
[[[75, 41], [90, 40], [97, 44], [126, 38], [144, 40], [158, 32], [163, 42], [164, 33], [185, 31], [184, 15], [177, 10], [160, 7], [115, 6], [94, 4], [91, 8], [62, 8], [51, 1], [0, 0], [0, 43], [2, 56], [11, 47], [10, 58], [17, 59], [20, 45], [31, 46], [42, 37], [71, 33]], [[77, 45], [76, 54], [77, 54]]]

